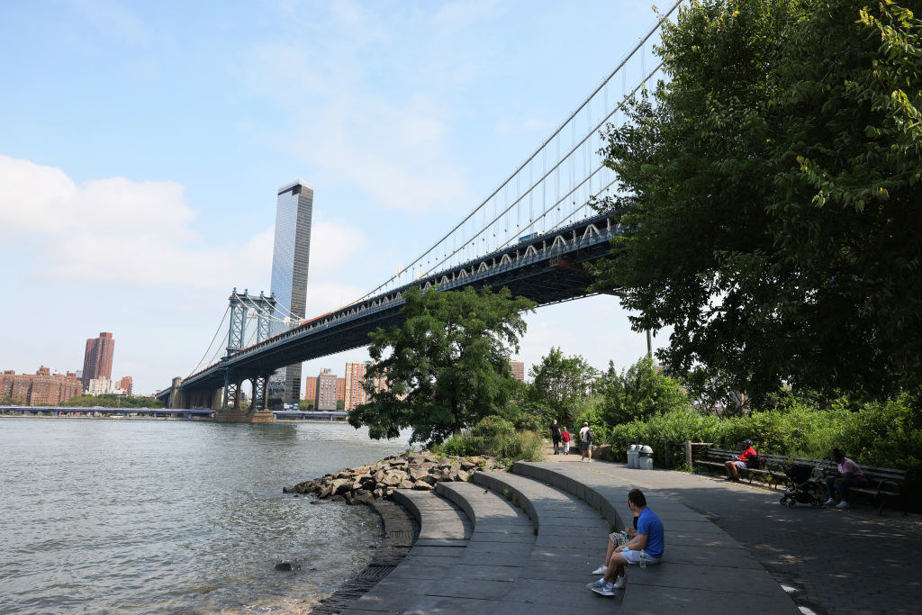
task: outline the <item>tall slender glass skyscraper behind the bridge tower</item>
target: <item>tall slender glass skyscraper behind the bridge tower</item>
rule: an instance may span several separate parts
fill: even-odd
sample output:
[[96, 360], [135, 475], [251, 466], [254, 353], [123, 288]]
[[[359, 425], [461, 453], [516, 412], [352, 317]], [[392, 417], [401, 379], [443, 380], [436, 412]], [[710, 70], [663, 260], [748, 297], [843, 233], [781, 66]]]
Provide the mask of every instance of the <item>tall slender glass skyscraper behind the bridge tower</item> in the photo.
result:
[[[281, 306], [276, 317], [303, 319], [307, 308], [307, 266], [311, 255], [313, 186], [298, 180], [278, 188], [276, 239], [270, 290]], [[298, 325], [298, 322], [291, 323]], [[272, 335], [288, 327], [272, 323]], [[283, 367], [269, 379], [269, 404], [297, 404], [301, 399], [301, 363]]]

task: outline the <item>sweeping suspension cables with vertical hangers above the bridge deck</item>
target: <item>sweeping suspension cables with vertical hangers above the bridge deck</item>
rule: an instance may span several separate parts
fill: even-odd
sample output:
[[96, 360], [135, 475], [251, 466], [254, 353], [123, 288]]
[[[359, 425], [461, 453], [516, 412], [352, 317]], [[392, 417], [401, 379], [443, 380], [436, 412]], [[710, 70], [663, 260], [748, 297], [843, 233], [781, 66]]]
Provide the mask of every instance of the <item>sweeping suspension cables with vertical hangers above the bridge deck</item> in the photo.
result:
[[[566, 220], [573, 219], [578, 211], [584, 210], [592, 197], [609, 190], [617, 182], [617, 177], [604, 164], [592, 164], [594, 154], [603, 145], [600, 136], [595, 142], [593, 136], [597, 136], [597, 131], [613, 118], [617, 121], [617, 113], [624, 109], [627, 101], [661, 70], [662, 62], [653, 70], [647, 70], [645, 47], [652, 44], [651, 39], [657, 30], [683, 1], [677, 0], [657, 19], [656, 24], [602, 79], [597, 88], [491, 195], [408, 266], [400, 267], [395, 276], [366, 293], [357, 302], [387, 288], [405, 284], [414, 277], [420, 278], [440, 268], [461, 265], [481, 254], [502, 249], [519, 241], [527, 231], [553, 231]], [[637, 83], [630, 92], [627, 88], [629, 71], [634, 75], [632, 79], [636, 77], [634, 82]], [[609, 105], [609, 89], [613, 87], [614, 77], [619, 73], [621, 97], [612, 107]], [[578, 128], [577, 124], [584, 120], [585, 128]], [[573, 208], [564, 206], [564, 202], [571, 197]], [[538, 216], [535, 215], [536, 205], [540, 212]], [[524, 220], [526, 216], [527, 220]]]

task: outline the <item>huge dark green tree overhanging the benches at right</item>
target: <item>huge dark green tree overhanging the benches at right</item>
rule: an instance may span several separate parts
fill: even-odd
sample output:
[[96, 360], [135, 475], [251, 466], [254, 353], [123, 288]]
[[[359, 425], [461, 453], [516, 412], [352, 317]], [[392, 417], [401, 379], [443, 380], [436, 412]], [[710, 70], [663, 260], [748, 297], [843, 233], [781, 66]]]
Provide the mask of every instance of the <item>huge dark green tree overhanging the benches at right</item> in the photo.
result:
[[715, 395], [922, 384], [922, 22], [884, 0], [703, 0], [609, 126], [598, 288]]

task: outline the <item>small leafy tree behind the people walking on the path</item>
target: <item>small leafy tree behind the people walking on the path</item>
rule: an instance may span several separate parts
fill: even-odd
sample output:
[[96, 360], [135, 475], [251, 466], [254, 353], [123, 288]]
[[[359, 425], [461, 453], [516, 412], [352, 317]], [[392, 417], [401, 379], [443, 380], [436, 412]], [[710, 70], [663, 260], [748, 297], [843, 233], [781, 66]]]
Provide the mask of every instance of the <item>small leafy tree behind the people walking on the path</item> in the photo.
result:
[[589, 394], [597, 371], [583, 357], [564, 357], [561, 349], [551, 348], [547, 356], [531, 367], [528, 375], [532, 378], [529, 400], [549, 408], [550, 419], [572, 425], [577, 414], [575, 403]]

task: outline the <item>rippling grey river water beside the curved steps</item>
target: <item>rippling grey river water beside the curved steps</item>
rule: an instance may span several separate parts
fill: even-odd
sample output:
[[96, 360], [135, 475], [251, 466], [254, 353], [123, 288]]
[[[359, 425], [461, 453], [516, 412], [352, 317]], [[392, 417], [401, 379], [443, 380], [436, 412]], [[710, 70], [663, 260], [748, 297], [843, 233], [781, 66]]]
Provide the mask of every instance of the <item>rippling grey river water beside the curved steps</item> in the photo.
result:
[[342, 424], [0, 419], [0, 611], [306, 610], [381, 524], [282, 486], [406, 447]]

